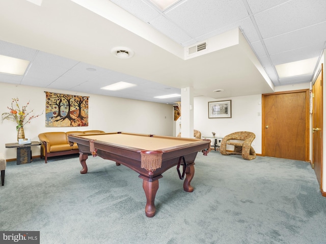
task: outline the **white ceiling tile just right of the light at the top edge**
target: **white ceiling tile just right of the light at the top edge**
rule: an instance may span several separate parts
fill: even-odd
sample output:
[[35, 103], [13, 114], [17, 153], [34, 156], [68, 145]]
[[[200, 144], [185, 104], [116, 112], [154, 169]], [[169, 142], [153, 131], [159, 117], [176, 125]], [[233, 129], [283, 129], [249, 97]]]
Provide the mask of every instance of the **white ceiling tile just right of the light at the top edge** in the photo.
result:
[[206, 0], [200, 4], [186, 1], [166, 12], [166, 16], [195, 38], [249, 15], [241, 0]]

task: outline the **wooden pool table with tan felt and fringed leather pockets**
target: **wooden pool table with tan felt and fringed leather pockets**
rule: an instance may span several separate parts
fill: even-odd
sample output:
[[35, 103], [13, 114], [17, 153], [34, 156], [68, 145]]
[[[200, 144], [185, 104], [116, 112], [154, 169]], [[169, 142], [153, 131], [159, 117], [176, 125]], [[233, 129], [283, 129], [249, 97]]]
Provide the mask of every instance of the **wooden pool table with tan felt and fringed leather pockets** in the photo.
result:
[[190, 183], [195, 173], [197, 153], [202, 151], [207, 155], [210, 150], [210, 140], [124, 132], [68, 135], [68, 140], [78, 144], [82, 174], [88, 171], [86, 160], [90, 154], [112, 160], [116, 165], [125, 165], [139, 173], [146, 195], [147, 217], [155, 215], [154, 200], [162, 173], [177, 166], [180, 179], [184, 179], [184, 191], [192, 192], [194, 188]]

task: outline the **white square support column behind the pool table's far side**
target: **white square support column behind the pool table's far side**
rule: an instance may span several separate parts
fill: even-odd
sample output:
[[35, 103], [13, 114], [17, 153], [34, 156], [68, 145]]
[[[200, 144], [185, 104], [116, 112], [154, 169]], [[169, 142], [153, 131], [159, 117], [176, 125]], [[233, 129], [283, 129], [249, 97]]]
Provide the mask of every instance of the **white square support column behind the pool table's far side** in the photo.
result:
[[194, 138], [194, 88], [181, 88], [181, 136]]

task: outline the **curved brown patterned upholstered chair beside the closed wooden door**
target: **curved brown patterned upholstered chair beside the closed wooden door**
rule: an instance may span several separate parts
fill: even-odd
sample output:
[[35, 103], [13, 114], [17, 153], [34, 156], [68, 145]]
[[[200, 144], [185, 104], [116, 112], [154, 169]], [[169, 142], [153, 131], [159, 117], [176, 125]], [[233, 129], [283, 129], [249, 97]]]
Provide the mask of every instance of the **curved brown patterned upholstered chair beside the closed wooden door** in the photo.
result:
[[[220, 152], [222, 155], [241, 155], [243, 159], [252, 160], [256, 158], [256, 152], [251, 146], [256, 135], [248, 131], [239, 131], [225, 136], [221, 142]], [[234, 141], [236, 140], [236, 141]], [[233, 151], [227, 151], [226, 146], [233, 145]]]

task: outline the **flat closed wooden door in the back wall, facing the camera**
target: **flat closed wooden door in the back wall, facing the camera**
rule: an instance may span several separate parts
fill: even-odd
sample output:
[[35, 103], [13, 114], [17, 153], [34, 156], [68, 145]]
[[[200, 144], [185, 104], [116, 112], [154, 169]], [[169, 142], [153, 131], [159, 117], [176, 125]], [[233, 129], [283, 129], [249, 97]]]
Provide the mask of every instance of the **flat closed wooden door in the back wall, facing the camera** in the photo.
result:
[[262, 154], [309, 161], [309, 89], [266, 94], [262, 102]]

